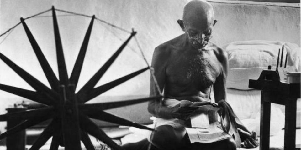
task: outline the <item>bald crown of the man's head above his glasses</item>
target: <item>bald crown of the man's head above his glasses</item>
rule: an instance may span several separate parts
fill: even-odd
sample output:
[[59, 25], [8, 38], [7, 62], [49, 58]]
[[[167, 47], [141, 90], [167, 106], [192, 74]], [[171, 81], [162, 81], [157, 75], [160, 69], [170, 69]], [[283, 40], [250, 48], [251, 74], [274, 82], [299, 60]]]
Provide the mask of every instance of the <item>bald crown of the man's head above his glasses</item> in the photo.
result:
[[185, 25], [208, 27], [214, 24], [213, 7], [204, 0], [193, 0], [184, 7], [183, 21]]

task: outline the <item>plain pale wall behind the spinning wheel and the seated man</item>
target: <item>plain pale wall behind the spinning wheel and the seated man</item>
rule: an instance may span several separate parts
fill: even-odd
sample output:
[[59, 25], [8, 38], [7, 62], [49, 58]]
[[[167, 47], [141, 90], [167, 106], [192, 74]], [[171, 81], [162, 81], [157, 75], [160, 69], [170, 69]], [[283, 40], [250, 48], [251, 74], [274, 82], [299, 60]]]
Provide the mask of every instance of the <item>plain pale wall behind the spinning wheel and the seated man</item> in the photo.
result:
[[[177, 19], [182, 18], [182, 9], [186, 2], [186, 0], [2, 0], [0, 1], [0, 33], [18, 23], [20, 17], [34, 15], [50, 9], [54, 5], [55, 8], [62, 10], [87, 15], [95, 14], [98, 18], [127, 30], [135, 28], [138, 31], [137, 37], [141, 47], [150, 62], [153, 50], [157, 45], [183, 33], [177, 24]], [[298, 5], [296, 5], [297, 7], [283, 7], [261, 5], [260, 3], [257, 5], [211, 3], [214, 6], [215, 17], [219, 20], [214, 27], [212, 41], [218, 45], [255, 39], [286, 41], [300, 45], [300, 7]], [[56, 13], [57, 15], [65, 14], [62, 12]], [[42, 16], [49, 15], [51, 15], [51, 12], [47, 12]], [[25, 22], [57, 75], [52, 18], [31, 18]], [[69, 75], [89, 22], [90, 18], [82, 16], [58, 17]], [[117, 35], [123, 41], [129, 36], [128, 33], [94, 21], [78, 88], [82, 87], [122, 44], [123, 41], [120, 41], [114, 35]], [[3, 37], [0, 38], [0, 40], [2, 39]], [[134, 40], [129, 45], [136, 52], [126, 47], [98, 85], [146, 67]], [[0, 45], [0, 52], [48, 85], [22, 25], [15, 28]], [[0, 61], [0, 71], [0, 83], [32, 90], [2, 61]], [[149, 80], [150, 75], [147, 71], [103, 94], [116, 96], [116, 98], [98, 97], [91, 102], [114, 101], [123, 98], [117, 98], [117, 96], [124, 95], [148, 95]], [[7, 104], [12, 104], [22, 98], [0, 91], [0, 99], [3, 103], [1, 105], [1, 111], [3, 111]], [[133, 111], [134, 108], [138, 110]], [[134, 107], [115, 109], [113, 112], [140, 123], [149, 122], [149, 115], [146, 115], [146, 103]], [[139, 112], [139, 114], [135, 112]]]

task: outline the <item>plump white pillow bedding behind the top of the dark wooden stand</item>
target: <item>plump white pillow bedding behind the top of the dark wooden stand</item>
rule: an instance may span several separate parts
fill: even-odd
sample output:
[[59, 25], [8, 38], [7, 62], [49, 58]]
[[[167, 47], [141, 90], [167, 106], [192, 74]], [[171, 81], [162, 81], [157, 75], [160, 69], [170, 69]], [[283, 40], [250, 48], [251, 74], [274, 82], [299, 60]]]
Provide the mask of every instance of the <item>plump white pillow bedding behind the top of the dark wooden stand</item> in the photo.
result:
[[288, 53], [287, 67], [295, 66], [300, 69], [300, 47], [297, 44], [253, 40], [232, 42], [222, 46], [228, 54], [229, 62], [227, 88], [250, 89], [249, 79], [257, 79], [262, 69], [267, 69], [268, 65], [276, 67], [278, 49], [282, 49], [282, 44], [284, 44], [283, 66]]

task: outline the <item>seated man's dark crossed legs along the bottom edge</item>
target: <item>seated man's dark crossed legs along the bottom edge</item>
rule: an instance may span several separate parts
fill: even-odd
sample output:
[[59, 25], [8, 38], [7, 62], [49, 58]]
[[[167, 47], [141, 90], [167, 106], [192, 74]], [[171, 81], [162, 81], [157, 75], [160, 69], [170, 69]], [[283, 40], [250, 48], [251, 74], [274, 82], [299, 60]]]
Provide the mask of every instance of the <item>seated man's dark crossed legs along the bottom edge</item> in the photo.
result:
[[[233, 138], [213, 143], [190, 143], [185, 128], [161, 125], [152, 135], [151, 150], [236, 150]], [[146, 146], [147, 145], [147, 146]], [[138, 143], [124, 145], [126, 150], [147, 150], [149, 142], [144, 139]]]

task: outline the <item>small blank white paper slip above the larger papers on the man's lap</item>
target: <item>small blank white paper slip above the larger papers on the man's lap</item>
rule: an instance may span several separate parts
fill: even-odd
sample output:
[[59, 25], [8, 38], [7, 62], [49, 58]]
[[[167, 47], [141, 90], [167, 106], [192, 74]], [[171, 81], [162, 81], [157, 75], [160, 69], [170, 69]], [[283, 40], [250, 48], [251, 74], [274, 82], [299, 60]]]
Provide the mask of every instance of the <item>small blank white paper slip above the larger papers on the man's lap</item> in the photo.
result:
[[208, 113], [201, 113], [190, 118], [192, 128], [209, 128]]

